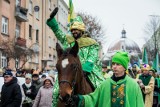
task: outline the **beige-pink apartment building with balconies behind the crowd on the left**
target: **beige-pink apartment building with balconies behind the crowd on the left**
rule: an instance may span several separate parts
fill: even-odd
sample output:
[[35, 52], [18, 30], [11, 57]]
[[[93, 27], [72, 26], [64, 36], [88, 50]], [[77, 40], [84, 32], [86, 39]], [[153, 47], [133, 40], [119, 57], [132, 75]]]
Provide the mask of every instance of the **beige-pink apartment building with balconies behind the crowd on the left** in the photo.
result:
[[[61, 16], [61, 12], [58, 12], [56, 19], [62, 30], [67, 32], [65, 27], [68, 7], [63, 0], [60, 1], [62, 3], [59, 3], [59, 0], [0, 0], [1, 68], [15, 69], [22, 66], [25, 69], [41, 70], [55, 68], [57, 39], [46, 25], [46, 20], [55, 7], [59, 5], [59, 10], [63, 7], [65, 15]], [[16, 56], [9, 56], [4, 41], [12, 43], [13, 50], [15, 47], [18, 48]]]

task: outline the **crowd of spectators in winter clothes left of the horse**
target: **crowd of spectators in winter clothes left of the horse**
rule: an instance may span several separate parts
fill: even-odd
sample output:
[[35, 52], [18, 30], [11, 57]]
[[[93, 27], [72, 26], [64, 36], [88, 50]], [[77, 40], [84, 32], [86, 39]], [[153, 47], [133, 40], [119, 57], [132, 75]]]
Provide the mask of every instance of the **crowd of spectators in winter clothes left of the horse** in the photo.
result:
[[[1, 71], [4, 84], [1, 89], [0, 107], [51, 107], [53, 73], [39, 75], [38, 70], [32, 69], [29, 73], [18, 71], [13, 75], [13, 70]], [[19, 78], [24, 78], [23, 84], [20, 84]]]

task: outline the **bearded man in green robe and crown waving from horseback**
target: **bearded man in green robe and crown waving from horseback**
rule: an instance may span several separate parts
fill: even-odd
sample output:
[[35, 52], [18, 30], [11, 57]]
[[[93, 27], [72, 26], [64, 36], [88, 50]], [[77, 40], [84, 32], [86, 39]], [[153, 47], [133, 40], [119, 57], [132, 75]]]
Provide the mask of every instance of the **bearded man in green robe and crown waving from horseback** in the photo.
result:
[[[61, 42], [64, 49], [72, 47], [75, 41], [78, 42], [78, 55], [82, 64], [82, 69], [94, 90], [104, 80], [101, 63], [99, 61], [99, 44], [85, 33], [85, 25], [80, 16], [73, 19], [70, 25], [71, 35], [69, 36], [63, 33], [54, 18], [57, 12], [58, 8], [55, 8], [46, 23], [52, 29], [57, 39]], [[58, 89], [58, 81], [56, 81], [53, 92], [53, 107], [56, 106], [58, 100]]]

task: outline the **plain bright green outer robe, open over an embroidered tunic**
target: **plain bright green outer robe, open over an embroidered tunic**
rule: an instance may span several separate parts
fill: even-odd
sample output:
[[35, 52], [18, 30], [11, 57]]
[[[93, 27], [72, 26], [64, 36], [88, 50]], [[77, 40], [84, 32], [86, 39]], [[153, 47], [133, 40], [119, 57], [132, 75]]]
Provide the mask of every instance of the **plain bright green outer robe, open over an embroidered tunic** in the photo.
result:
[[[142, 92], [136, 81], [129, 76], [117, 83], [111, 78], [106, 79], [93, 93], [82, 95], [79, 106], [81, 107], [111, 107], [111, 83], [126, 83], [125, 107], [144, 107]], [[84, 105], [83, 105], [84, 103]]]

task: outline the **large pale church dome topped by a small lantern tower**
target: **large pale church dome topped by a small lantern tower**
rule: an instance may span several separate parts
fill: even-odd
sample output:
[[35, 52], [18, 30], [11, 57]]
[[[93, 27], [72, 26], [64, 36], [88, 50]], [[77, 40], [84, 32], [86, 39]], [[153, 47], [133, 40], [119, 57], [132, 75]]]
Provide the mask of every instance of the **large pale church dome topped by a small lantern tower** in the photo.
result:
[[122, 37], [113, 41], [108, 47], [107, 53], [114, 53], [118, 50], [127, 51], [130, 55], [141, 53], [136, 42], [126, 37], [126, 31], [122, 30]]

